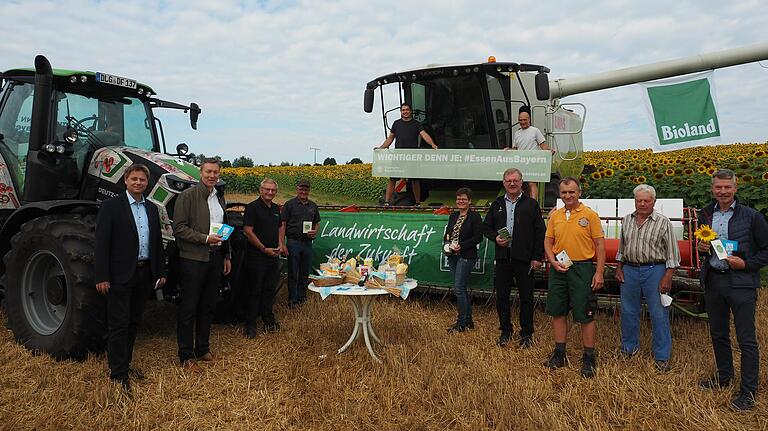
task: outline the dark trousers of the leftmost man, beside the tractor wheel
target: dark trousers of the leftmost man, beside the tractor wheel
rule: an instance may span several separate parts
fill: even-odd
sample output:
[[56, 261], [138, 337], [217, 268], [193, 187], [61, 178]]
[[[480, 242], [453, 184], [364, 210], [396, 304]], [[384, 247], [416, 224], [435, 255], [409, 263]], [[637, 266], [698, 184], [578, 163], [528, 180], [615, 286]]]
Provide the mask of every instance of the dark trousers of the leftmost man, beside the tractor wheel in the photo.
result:
[[152, 269], [137, 267], [125, 284], [110, 283], [107, 291], [107, 361], [110, 378], [128, 378], [133, 359], [133, 344], [144, 313], [144, 303], [152, 289]]

